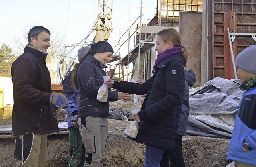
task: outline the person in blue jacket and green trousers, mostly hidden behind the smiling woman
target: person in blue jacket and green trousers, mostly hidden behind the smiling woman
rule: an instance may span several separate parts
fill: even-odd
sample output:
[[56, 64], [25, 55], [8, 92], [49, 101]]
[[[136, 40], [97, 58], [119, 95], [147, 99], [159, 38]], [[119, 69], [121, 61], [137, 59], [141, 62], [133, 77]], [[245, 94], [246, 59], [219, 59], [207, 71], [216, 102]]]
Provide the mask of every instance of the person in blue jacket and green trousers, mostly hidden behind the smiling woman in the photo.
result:
[[[89, 47], [82, 47], [78, 50], [78, 61], [80, 62], [82, 58], [88, 53]], [[79, 108], [79, 98], [80, 93], [76, 92], [71, 84], [70, 78], [72, 71], [68, 73], [65, 79], [62, 82], [63, 91], [62, 93], [68, 97], [68, 103], [64, 106], [64, 109], [68, 112], [67, 122], [68, 122], [68, 131], [69, 131], [69, 144], [70, 144], [70, 153], [68, 156], [68, 167], [83, 167], [90, 165], [91, 155], [86, 154], [84, 150], [84, 145], [82, 137], [79, 132], [78, 126], [78, 108]]]

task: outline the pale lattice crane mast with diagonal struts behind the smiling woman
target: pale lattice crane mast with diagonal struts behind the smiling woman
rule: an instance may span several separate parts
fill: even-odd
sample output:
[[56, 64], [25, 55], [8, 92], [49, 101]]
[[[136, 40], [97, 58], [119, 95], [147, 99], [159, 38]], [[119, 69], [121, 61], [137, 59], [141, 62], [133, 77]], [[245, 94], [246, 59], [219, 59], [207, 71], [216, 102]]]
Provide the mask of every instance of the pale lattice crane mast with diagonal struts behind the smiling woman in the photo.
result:
[[[61, 84], [63, 79], [69, 73], [70, 69], [74, 65], [74, 60], [78, 55], [78, 51], [72, 57], [70, 63], [68, 64], [66, 71], [63, 73], [62, 70], [62, 63], [64, 62], [65, 57], [75, 48], [79, 46], [79, 49], [83, 47], [86, 43], [88, 37], [92, 34], [93, 31], [96, 31], [96, 36], [94, 37], [94, 43], [98, 41], [108, 41], [109, 35], [112, 32], [112, 7], [113, 7], [113, 0], [98, 0], [98, 17], [96, 18], [92, 28], [88, 32], [88, 34], [79, 42], [77, 43], [70, 51], [68, 51], [64, 56], [63, 59], [58, 61], [57, 67], [57, 84]], [[90, 43], [91, 44], [91, 43]], [[87, 44], [86, 44], [87, 45]], [[118, 59], [115, 57], [114, 59]]]

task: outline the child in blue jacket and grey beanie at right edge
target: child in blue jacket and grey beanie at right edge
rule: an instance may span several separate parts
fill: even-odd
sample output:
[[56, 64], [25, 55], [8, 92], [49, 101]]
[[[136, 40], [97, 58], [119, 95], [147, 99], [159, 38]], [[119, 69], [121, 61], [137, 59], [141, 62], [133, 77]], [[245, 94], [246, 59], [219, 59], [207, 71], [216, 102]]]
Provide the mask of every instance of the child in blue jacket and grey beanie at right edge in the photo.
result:
[[235, 60], [239, 88], [244, 92], [238, 113], [227, 159], [237, 167], [256, 167], [256, 45], [247, 47]]

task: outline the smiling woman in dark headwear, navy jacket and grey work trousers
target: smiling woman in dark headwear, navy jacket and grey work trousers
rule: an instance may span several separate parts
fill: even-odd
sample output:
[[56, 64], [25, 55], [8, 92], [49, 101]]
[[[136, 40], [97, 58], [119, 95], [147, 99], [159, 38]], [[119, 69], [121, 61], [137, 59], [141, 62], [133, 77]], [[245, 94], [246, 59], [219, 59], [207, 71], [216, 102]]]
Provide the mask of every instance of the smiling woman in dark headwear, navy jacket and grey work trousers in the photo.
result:
[[81, 63], [75, 65], [72, 72], [71, 83], [75, 90], [80, 92], [80, 105], [78, 109], [78, 125], [86, 153], [92, 153], [90, 167], [102, 167], [106, 158], [106, 145], [108, 140], [108, 112], [109, 102], [130, 98], [129, 94], [112, 92], [108, 89], [107, 102], [97, 100], [103, 76], [103, 68], [110, 61], [113, 48], [106, 41], [99, 41], [90, 46], [89, 52]]

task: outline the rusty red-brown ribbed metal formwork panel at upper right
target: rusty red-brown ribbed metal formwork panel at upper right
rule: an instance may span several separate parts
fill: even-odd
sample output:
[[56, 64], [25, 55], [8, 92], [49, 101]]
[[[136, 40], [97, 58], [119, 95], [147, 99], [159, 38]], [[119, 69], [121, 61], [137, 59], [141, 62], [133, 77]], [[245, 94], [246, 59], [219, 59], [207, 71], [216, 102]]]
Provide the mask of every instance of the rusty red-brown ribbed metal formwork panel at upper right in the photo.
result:
[[[255, 33], [255, 3], [256, 0], [213, 0], [214, 77], [234, 78], [227, 27], [230, 33]], [[232, 43], [234, 57], [246, 47], [254, 44], [256, 41], [250, 36], [236, 36]]]

